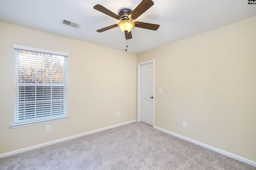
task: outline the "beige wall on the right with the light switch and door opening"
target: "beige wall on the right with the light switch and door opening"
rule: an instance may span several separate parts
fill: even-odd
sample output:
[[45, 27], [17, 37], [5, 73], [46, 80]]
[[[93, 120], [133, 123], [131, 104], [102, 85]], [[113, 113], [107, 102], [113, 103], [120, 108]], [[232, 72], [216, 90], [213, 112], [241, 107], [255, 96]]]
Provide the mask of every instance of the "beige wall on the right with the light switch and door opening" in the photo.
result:
[[141, 53], [137, 63], [152, 59], [155, 126], [256, 162], [256, 16]]

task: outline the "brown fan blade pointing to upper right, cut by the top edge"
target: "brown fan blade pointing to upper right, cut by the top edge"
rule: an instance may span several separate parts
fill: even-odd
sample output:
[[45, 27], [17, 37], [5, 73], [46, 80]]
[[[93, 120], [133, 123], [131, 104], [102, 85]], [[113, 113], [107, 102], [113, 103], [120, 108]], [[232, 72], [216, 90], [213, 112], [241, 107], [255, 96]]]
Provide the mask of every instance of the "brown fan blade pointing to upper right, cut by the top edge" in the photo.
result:
[[128, 18], [131, 20], [136, 20], [141, 14], [146, 12], [151, 6], [154, 5], [154, 2], [152, 0], [142, 0], [140, 4], [130, 13]]

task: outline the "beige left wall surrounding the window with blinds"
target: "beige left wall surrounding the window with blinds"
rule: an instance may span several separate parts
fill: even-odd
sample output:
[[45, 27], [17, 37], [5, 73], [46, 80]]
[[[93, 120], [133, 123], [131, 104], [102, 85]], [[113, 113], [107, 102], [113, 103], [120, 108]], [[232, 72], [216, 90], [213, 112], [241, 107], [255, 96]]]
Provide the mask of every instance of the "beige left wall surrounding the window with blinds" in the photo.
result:
[[[11, 129], [12, 44], [69, 53], [70, 119]], [[0, 22], [0, 154], [137, 119], [136, 66], [136, 55], [126, 51]], [[51, 125], [51, 132], [46, 133], [46, 125]]]

